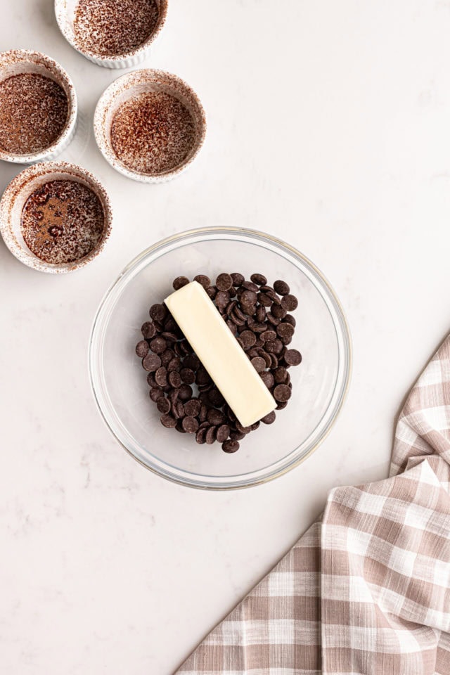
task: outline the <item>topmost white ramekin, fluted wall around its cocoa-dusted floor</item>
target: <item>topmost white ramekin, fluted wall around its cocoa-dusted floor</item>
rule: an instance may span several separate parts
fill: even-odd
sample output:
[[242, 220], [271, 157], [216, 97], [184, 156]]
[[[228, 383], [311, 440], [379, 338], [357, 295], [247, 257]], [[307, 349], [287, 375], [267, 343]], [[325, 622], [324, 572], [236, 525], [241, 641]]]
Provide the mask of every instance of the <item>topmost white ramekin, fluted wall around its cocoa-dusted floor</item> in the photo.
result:
[[117, 56], [104, 56], [103, 54], [96, 54], [92, 51], [83, 49], [78, 44], [77, 37], [73, 30], [73, 22], [75, 12], [77, 10], [79, 0], [55, 0], [55, 14], [56, 21], [63, 36], [70, 45], [80, 54], [89, 58], [97, 65], [102, 65], [104, 68], [134, 68], [148, 56], [153, 42], [160, 34], [162, 27], [165, 25], [167, 16], [167, 0], [156, 0], [158, 4], [159, 18], [155, 26], [155, 30], [149, 35], [146, 41], [133, 51], [118, 54]]

